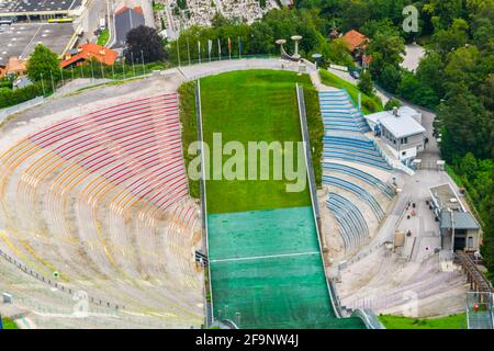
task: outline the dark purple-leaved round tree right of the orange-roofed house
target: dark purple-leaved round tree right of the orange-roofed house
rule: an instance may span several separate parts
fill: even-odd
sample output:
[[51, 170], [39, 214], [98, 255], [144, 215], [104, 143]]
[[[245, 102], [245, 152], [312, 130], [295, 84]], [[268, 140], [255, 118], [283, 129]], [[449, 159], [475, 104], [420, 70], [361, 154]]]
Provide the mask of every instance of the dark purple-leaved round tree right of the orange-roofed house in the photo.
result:
[[135, 63], [142, 63], [143, 56], [145, 63], [156, 63], [166, 58], [158, 32], [145, 25], [139, 25], [127, 33], [124, 56], [127, 61], [134, 58]]

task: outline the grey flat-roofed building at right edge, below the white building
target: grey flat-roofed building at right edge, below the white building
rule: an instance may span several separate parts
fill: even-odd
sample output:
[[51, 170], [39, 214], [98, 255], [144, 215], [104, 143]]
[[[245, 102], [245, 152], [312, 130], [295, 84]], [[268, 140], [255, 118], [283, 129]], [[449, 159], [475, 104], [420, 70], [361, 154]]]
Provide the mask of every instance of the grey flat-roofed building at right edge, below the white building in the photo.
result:
[[463, 206], [451, 184], [429, 188], [433, 211], [439, 222], [444, 250], [476, 251], [481, 227]]

